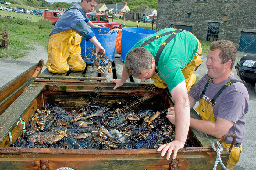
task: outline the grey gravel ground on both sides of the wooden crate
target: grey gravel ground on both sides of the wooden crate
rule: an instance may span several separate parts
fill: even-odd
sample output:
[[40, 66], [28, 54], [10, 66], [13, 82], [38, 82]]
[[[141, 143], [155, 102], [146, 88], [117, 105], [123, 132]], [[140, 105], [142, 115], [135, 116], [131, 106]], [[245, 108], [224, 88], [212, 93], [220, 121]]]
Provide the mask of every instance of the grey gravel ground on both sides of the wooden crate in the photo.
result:
[[[48, 59], [47, 51], [41, 46], [35, 46], [37, 50], [31, 50], [30, 54], [25, 56], [24, 58], [20, 59], [12, 59], [12, 58], [0, 58], [0, 87], [4, 84], [8, 83], [10, 80], [15, 78], [16, 76], [20, 75], [28, 68], [33, 66], [34, 64], [38, 63], [40, 59], [44, 60], [44, 67], [43, 70], [46, 68], [45, 63]], [[249, 55], [249, 53], [242, 53], [238, 52], [238, 57], [242, 57], [244, 55]], [[202, 77], [205, 73], [207, 73], [206, 68], [206, 56], [204, 56], [204, 61], [201, 66], [197, 69], [197, 73]], [[235, 74], [236, 78], [240, 80], [240, 78], [236, 74], [235, 67], [233, 67], [232, 72]], [[254, 141], [256, 141], [256, 131], [255, 131], [255, 123], [256, 114], [253, 110], [256, 110], [256, 93], [254, 92], [254, 87], [250, 84], [243, 82], [244, 85], [247, 87], [249, 92], [249, 105], [250, 110], [247, 112], [246, 116], [246, 138], [243, 144], [243, 151], [240, 155], [240, 161], [234, 168], [234, 170], [253, 170], [256, 167], [254, 150], [255, 145]]]

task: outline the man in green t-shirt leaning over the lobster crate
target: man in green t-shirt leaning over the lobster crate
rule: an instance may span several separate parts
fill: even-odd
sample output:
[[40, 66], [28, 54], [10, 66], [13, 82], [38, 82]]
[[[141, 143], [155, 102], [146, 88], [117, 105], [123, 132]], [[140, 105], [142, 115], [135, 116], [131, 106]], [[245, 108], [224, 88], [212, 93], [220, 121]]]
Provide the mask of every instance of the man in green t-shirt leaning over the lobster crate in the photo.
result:
[[173, 142], [165, 144], [161, 153], [164, 156], [168, 151], [167, 159], [172, 151], [175, 159], [187, 139], [190, 121], [187, 92], [199, 80], [193, 71], [203, 61], [201, 52], [201, 44], [192, 33], [175, 28], [162, 29], [134, 45], [126, 55], [122, 78], [111, 80], [116, 83], [114, 89], [122, 86], [130, 75], [142, 82], [151, 78], [159, 88], [168, 87], [175, 102], [176, 135]]

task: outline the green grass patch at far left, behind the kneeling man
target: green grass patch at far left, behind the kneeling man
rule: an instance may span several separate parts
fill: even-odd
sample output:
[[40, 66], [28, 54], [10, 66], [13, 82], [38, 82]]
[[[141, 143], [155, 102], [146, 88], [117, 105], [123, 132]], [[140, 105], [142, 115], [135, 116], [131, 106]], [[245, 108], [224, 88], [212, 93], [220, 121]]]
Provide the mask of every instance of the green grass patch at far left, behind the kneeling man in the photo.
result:
[[[9, 13], [13, 13], [11, 16], [14, 16], [14, 12]], [[22, 14], [17, 13], [17, 15]], [[35, 15], [31, 16], [33, 16], [34, 19]], [[35, 18], [36, 17], [37, 16], [35, 16]], [[8, 36], [9, 49], [0, 48], [0, 58], [20, 58], [29, 53], [28, 50], [34, 49], [34, 44], [38, 44], [46, 48], [49, 33], [53, 29], [53, 25], [50, 21], [40, 21], [39, 19], [38, 22], [33, 22], [28, 19], [21, 19], [18, 17], [0, 17], [0, 28], [7, 30], [8, 33], [12, 33]]]

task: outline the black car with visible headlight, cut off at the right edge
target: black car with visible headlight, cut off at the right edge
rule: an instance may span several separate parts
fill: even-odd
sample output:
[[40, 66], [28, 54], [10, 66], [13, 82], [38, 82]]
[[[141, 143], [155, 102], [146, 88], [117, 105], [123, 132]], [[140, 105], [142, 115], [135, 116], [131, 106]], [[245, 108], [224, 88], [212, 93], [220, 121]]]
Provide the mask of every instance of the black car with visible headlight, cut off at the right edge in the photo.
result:
[[246, 83], [254, 85], [256, 92], [256, 55], [247, 55], [241, 57], [235, 68], [240, 79]]

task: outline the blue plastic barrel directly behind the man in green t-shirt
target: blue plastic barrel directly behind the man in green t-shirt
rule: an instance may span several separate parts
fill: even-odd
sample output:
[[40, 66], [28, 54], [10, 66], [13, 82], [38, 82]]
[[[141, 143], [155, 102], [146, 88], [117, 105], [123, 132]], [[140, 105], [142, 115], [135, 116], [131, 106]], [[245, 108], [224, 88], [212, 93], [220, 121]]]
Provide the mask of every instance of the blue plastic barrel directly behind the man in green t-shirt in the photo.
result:
[[157, 31], [145, 28], [136, 27], [124, 27], [122, 29], [121, 39], [121, 60], [125, 59], [125, 56], [129, 50], [141, 39], [156, 33]]

